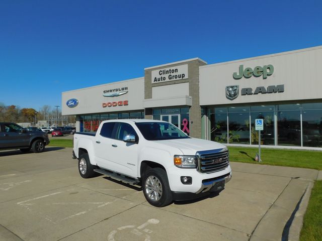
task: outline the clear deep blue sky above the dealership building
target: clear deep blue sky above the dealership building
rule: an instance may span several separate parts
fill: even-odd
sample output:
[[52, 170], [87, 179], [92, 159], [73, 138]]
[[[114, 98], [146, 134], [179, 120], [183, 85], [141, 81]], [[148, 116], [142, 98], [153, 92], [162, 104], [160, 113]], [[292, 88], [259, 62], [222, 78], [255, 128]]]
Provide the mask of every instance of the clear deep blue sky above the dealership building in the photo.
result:
[[322, 1], [0, 1], [0, 102], [61, 105], [61, 92], [322, 45]]

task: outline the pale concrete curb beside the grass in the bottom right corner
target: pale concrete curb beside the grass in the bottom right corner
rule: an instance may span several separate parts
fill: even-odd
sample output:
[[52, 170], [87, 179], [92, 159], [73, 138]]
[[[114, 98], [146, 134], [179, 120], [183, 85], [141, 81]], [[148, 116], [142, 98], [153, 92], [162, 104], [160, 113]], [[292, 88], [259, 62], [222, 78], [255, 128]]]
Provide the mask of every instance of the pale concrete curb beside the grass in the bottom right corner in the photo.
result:
[[288, 241], [298, 241], [300, 239], [300, 232], [303, 226], [303, 217], [306, 212], [313, 184], [313, 182], [310, 182], [305, 189], [302, 201], [295, 213], [294, 219], [289, 229]]

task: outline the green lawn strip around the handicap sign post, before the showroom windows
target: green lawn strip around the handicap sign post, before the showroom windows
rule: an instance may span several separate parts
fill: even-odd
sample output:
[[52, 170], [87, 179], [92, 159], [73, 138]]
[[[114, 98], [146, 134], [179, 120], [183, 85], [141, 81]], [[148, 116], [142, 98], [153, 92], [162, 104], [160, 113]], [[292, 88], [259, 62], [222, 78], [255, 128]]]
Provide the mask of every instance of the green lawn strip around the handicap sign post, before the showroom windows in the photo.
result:
[[[322, 152], [294, 149], [261, 149], [262, 162], [256, 162], [258, 148], [228, 147], [231, 162], [245, 162], [272, 166], [300, 167], [322, 170]], [[322, 240], [322, 239], [321, 239]]]

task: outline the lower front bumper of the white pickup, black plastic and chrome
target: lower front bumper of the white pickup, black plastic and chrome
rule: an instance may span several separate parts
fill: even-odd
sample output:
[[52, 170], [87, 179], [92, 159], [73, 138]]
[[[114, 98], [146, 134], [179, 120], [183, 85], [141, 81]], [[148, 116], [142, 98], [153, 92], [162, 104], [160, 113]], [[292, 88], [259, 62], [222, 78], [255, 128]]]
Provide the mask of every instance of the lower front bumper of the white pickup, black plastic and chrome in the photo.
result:
[[219, 193], [224, 189], [225, 184], [229, 182], [230, 179], [231, 172], [209, 180], [206, 179], [202, 181], [201, 188], [196, 193], [172, 191], [172, 198], [175, 201], [183, 201], [201, 198], [211, 193]]

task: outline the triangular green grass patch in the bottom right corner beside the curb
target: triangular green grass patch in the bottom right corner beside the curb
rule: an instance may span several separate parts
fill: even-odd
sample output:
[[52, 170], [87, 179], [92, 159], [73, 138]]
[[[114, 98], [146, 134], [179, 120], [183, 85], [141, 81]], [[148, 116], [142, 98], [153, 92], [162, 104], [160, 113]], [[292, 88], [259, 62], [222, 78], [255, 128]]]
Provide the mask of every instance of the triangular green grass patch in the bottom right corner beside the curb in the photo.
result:
[[322, 240], [322, 181], [315, 181], [303, 219], [300, 241]]

